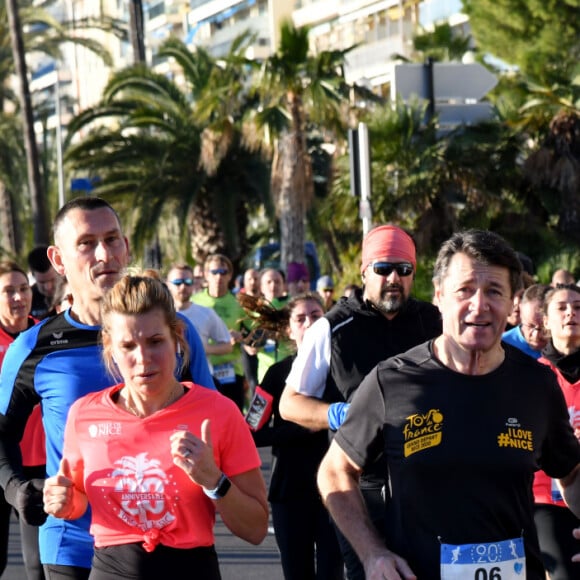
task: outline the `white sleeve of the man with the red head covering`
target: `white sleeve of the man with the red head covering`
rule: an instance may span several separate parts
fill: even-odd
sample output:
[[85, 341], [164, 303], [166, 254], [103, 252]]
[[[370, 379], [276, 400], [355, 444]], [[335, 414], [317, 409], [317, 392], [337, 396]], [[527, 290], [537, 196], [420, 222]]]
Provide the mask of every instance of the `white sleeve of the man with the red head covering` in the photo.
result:
[[305, 333], [286, 379], [297, 393], [322, 399], [330, 371], [330, 323], [319, 318]]

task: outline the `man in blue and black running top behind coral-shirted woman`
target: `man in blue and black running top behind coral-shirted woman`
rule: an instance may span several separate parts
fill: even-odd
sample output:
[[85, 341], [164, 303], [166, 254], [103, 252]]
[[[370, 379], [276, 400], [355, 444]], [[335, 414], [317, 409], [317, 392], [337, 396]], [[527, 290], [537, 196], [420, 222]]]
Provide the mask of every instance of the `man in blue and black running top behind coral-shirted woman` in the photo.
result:
[[[129, 244], [118, 215], [98, 197], [65, 204], [53, 231], [48, 257], [57, 273], [66, 276], [73, 305], [21, 333], [6, 354], [0, 375], [0, 485], [20, 517], [42, 525], [40, 558], [47, 579], [84, 580], [93, 553], [90, 510], [73, 521], [47, 518], [42, 508], [44, 480], [24, 478], [18, 443], [32, 408], [40, 402], [47, 474], [56, 474], [69, 407], [79, 397], [114, 384], [101, 357], [100, 302], [123, 274]], [[191, 377], [213, 388], [199, 336], [191, 325], [187, 334]]]

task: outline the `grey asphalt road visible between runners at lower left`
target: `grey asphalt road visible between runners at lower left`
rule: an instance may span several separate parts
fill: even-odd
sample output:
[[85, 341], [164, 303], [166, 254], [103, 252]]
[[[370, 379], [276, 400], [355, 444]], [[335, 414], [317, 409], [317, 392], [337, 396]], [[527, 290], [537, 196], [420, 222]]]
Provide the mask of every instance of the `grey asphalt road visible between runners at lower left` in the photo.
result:
[[[262, 457], [262, 471], [266, 482], [268, 482], [272, 463], [270, 448], [260, 449], [260, 455]], [[234, 537], [218, 517], [215, 538], [222, 580], [284, 579], [280, 566], [280, 555], [273, 534], [269, 533], [259, 546], [253, 546]], [[2, 580], [26, 580], [20, 552], [20, 533], [18, 522], [15, 519], [10, 528], [8, 565], [1, 578]]]

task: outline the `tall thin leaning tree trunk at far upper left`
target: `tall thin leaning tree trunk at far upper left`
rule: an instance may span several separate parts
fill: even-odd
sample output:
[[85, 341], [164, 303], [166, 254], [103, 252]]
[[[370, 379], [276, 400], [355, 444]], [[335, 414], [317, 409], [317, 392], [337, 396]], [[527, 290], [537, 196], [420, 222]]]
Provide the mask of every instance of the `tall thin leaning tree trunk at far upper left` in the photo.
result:
[[34, 245], [43, 245], [49, 243], [48, 215], [40, 177], [40, 161], [36, 135], [34, 133], [34, 116], [28, 85], [28, 71], [24, 56], [24, 42], [22, 39], [22, 26], [20, 24], [17, 0], [7, 0], [6, 11], [8, 13], [8, 24], [10, 26], [14, 66], [16, 76], [20, 83], [24, 144], [26, 147], [28, 166], [28, 186], [30, 188], [30, 206], [32, 208], [32, 226], [34, 230], [33, 240]]

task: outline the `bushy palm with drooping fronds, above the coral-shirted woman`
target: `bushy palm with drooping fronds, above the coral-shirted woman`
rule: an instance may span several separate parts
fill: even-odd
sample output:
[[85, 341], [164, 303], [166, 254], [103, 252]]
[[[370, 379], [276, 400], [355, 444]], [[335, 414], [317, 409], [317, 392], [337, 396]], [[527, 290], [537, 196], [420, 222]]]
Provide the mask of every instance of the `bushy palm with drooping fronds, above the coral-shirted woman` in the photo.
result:
[[[232, 62], [242, 48], [233, 48]], [[216, 62], [176, 39], [159, 54], [175, 59], [183, 83], [142, 66], [116, 73], [101, 102], [72, 121], [71, 138], [96, 122], [99, 128], [70, 145], [67, 162], [98, 177], [96, 192], [121, 208], [136, 248], [176, 216], [180, 241], [191, 244], [194, 260], [219, 250], [239, 262], [247, 249], [248, 207], [268, 191], [268, 166], [240, 130], [243, 83], [228, 80], [235, 71], [229, 58]], [[165, 242], [175, 252], [175, 240]]]

